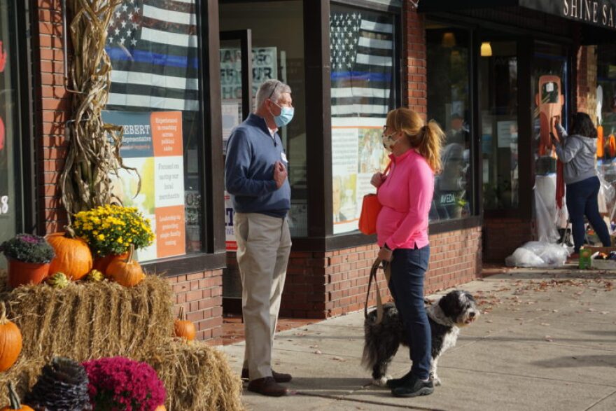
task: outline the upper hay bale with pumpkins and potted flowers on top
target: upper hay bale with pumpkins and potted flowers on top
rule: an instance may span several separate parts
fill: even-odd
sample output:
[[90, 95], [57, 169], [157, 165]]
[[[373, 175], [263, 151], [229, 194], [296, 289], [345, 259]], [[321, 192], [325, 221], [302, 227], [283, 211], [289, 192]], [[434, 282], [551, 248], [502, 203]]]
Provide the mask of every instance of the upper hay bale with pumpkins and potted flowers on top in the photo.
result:
[[5, 289], [0, 298], [20, 327], [26, 358], [142, 358], [173, 335], [172, 288], [154, 275], [132, 288], [79, 281]]

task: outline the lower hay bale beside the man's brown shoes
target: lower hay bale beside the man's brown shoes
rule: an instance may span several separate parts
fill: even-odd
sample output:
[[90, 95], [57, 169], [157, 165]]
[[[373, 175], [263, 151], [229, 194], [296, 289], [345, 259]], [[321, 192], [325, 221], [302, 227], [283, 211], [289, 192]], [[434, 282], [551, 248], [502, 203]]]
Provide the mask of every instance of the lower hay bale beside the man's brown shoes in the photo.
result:
[[167, 410], [244, 410], [241, 379], [227, 356], [204, 342], [170, 338], [141, 358], [158, 372], [167, 389]]

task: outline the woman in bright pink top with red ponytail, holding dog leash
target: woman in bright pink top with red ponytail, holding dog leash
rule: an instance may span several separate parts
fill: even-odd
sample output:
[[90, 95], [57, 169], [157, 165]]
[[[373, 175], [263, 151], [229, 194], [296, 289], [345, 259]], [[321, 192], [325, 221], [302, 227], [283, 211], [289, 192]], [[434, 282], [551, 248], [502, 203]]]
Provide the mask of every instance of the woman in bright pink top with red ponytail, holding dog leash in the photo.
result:
[[423, 276], [428, 270], [428, 211], [434, 193], [434, 174], [440, 171], [444, 133], [435, 122], [423, 123], [419, 114], [400, 108], [387, 114], [383, 145], [391, 154], [390, 172], [376, 173], [383, 206], [377, 218], [379, 258], [391, 261], [389, 290], [404, 323], [412, 368], [388, 386], [394, 396], [433, 393], [430, 380], [430, 323], [423, 305]]

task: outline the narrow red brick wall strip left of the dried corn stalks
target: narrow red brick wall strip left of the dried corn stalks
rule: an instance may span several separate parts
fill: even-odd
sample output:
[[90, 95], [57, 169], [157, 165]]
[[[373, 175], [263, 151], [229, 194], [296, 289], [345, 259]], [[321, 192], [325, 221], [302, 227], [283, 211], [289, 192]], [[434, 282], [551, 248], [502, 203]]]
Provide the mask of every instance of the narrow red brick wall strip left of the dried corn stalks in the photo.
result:
[[[61, 231], [66, 225], [57, 183], [66, 155], [64, 124], [69, 120], [70, 95], [64, 87], [60, 1], [38, 0], [38, 11], [32, 13], [37, 225], [39, 232], [48, 233]], [[40, 70], [36, 70], [36, 62]]]

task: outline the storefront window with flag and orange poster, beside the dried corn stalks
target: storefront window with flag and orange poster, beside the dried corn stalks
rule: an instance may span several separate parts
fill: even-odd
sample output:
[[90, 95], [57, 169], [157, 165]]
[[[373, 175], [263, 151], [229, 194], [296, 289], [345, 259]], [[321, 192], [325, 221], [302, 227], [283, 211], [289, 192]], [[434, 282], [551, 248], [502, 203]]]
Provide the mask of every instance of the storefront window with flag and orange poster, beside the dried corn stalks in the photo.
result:
[[113, 195], [151, 219], [155, 244], [141, 261], [202, 251], [199, 1], [120, 1], [109, 27], [103, 119], [124, 126], [121, 154], [141, 178], [137, 194], [137, 174], [121, 172]]

